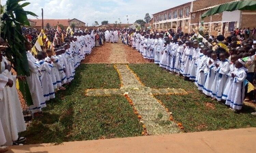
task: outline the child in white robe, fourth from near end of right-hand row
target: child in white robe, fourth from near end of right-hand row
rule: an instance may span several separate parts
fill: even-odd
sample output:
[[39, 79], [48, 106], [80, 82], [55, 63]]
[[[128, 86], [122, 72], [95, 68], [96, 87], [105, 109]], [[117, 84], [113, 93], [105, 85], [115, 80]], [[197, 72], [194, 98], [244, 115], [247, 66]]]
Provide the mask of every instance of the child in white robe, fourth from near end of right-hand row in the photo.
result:
[[206, 77], [205, 84], [203, 86], [203, 93], [207, 96], [212, 96], [212, 83], [215, 79], [215, 65], [219, 63], [217, 60], [217, 54], [213, 53], [210, 56], [211, 58], [207, 61], [207, 67], [204, 70]]

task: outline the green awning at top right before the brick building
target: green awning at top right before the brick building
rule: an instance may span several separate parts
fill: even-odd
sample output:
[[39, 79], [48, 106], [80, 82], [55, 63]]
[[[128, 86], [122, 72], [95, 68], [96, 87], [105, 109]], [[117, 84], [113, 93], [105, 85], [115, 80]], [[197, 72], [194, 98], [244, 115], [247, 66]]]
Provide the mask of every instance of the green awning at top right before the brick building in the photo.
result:
[[215, 6], [205, 12], [204, 14], [201, 15], [201, 18], [205, 18], [217, 13], [222, 13], [224, 11], [235, 11], [235, 10], [251, 10], [254, 11], [256, 10], [256, 1], [252, 0], [243, 0], [243, 1], [234, 1], [234, 2], [229, 2], [225, 4], [221, 4], [218, 6]]

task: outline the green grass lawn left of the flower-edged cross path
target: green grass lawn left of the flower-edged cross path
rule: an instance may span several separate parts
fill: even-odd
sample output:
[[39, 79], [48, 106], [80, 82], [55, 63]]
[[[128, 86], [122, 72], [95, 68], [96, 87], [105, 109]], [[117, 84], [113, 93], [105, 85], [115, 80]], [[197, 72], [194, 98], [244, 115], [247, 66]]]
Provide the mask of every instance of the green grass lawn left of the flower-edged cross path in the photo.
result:
[[67, 89], [47, 103], [43, 117], [33, 119], [21, 135], [27, 144], [141, 135], [142, 125], [125, 97], [85, 97], [85, 89], [119, 84], [113, 65], [82, 64]]

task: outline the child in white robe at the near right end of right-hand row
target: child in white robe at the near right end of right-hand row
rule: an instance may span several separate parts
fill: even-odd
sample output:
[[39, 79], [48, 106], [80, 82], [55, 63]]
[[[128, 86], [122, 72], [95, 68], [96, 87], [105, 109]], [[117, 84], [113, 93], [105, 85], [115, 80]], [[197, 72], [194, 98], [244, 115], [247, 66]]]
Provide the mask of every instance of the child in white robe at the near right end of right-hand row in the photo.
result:
[[226, 105], [230, 105], [233, 110], [241, 110], [244, 101], [244, 80], [246, 79], [247, 69], [243, 67], [245, 63], [239, 59], [235, 62], [235, 69], [231, 73], [231, 80], [233, 81], [228, 92]]

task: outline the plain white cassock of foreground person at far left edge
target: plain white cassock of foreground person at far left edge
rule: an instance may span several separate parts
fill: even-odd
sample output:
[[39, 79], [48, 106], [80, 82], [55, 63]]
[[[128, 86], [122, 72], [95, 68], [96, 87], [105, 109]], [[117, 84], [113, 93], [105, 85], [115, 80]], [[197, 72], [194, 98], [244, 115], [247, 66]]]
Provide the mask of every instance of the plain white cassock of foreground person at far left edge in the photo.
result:
[[2, 100], [0, 102], [0, 117], [6, 139], [4, 145], [11, 146], [13, 141], [18, 139], [18, 133], [26, 130], [26, 124], [15, 86], [16, 76], [13, 76], [8, 70], [5, 70], [4, 62], [8, 63], [3, 57], [1, 62], [1, 74], [13, 80], [13, 86], [5, 86], [0, 95], [0, 99]]

